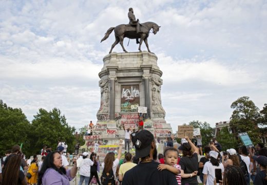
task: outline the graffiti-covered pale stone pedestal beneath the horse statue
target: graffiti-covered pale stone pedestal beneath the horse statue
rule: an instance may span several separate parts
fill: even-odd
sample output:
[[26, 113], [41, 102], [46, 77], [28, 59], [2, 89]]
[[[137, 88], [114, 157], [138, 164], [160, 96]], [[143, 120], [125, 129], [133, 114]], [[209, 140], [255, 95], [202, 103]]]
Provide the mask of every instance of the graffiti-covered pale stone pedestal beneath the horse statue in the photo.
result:
[[165, 121], [161, 104], [162, 71], [157, 65], [157, 56], [150, 52], [113, 52], [104, 57], [99, 73], [101, 104], [97, 113], [97, 125], [92, 136], [84, 136], [88, 150], [99, 143], [98, 153], [117, 150], [119, 139], [124, 139], [125, 128], [138, 130], [138, 106], [147, 107], [144, 129], [154, 134], [163, 143], [170, 131]]

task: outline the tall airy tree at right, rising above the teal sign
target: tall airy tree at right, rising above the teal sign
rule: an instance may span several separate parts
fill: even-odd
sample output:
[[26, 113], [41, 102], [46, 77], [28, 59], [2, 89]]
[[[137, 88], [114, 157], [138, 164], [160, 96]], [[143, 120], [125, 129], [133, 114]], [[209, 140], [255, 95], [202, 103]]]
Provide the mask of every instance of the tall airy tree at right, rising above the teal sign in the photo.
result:
[[230, 118], [230, 126], [235, 137], [238, 133], [246, 132], [254, 143], [259, 142], [259, 108], [249, 97], [238, 98], [232, 103], [231, 108], [234, 111]]

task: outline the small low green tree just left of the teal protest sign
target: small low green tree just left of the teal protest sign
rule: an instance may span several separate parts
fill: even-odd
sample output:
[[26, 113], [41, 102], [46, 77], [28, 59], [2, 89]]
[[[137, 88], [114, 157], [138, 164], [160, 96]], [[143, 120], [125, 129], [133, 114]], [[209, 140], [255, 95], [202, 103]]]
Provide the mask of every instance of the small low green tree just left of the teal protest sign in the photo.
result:
[[222, 151], [226, 151], [227, 149], [236, 149], [238, 147], [238, 140], [233, 134], [228, 132], [227, 127], [223, 127], [220, 130], [216, 140], [221, 144]]

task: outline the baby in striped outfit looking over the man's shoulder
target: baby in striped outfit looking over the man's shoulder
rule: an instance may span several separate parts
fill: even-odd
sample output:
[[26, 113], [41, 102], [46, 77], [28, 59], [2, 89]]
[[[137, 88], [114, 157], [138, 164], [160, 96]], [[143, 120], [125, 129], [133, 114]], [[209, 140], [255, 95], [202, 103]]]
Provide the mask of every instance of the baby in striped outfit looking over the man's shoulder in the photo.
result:
[[178, 151], [174, 147], [167, 147], [164, 151], [165, 164], [159, 164], [158, 170], [168, 170], [176, 175], [178, 185], [181, 185], [181, 166], [178, 162]]

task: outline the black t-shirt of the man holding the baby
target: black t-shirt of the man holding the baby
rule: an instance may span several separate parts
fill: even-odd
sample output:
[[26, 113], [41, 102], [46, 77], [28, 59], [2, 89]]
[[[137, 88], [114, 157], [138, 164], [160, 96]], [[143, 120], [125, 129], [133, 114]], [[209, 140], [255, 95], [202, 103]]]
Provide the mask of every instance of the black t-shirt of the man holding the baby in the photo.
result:
[[177, 185], [175, 174], [168, 170], [159, 171], [160, 163], [140, 162], [138, 165], [128, 170], [123, 176], [123, 185]]

